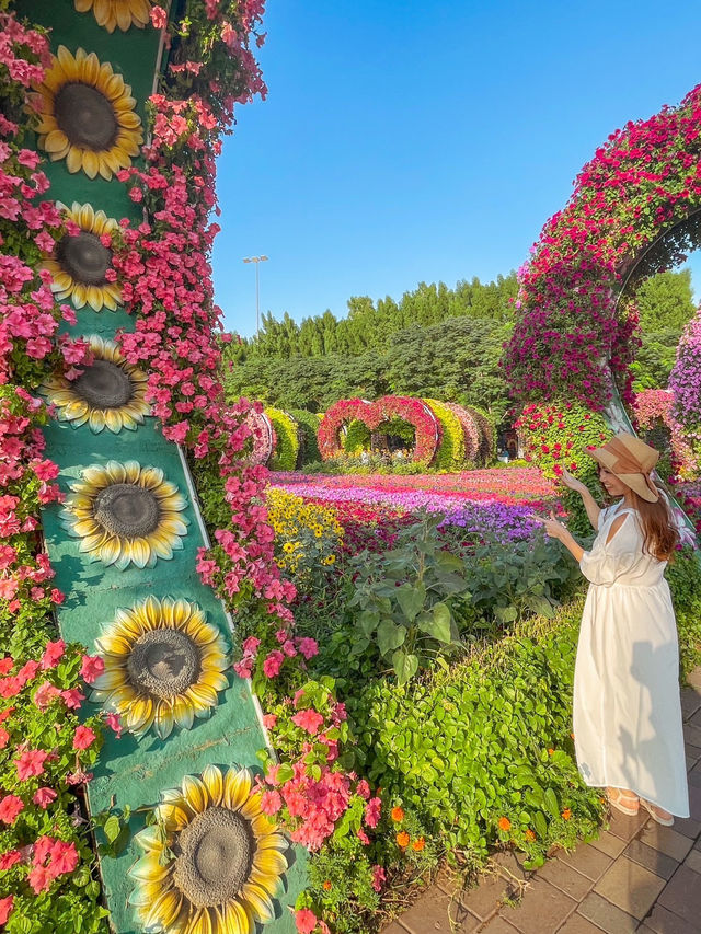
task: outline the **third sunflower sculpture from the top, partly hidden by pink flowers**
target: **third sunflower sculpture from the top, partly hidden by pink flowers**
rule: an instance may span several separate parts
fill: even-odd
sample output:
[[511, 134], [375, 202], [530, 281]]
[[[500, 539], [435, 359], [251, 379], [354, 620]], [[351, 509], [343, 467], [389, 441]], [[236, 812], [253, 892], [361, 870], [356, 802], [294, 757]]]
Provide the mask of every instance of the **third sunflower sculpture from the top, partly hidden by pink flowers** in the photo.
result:
[[100, 238], [117, 231], [119, 224], [104, 211], [93, 210], [92, 205], [73, 201], [68, 208], [57, 201], [56, 207], [62, 210], [66, 220], [80, 228], [76, 234], [61, 237], [54, 255], [42, 263], [54, 277], [51, 291], [57, 301], [70, 298], [76, 308], [89, 304], [93, 311], [102, 311], [103, 307], [116, 311], [122, 287], [106, 279], [107, 269], [112, 268], [112, 250]]

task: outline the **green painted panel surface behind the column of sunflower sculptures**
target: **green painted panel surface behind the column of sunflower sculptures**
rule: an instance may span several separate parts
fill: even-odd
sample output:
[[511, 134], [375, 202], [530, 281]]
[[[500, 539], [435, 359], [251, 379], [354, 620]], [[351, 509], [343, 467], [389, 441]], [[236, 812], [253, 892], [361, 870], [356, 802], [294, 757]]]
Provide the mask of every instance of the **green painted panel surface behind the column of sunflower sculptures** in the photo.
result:
[[[110, 61], [116, 72], [131, 85], [138, 101], [138, 112], [145, 120], [145, 101], [152, 91], [153, 74], [159, 57], [159, 34], [148, 27], [116, 30], [110, 34], [101, 28], [92, 12], [77, 13], [73, 0], [20, 0], [21, 14], [51, 30], [51, 47], [66, 45], [71, 51], [82, 47], [94, 51], [101, 62]], [[140, 208], [128, 197], [126, 186], [113, 178], [90, 180], [82, 172], [70, 174], [65, 163], [47, 163], [45, 171], [51, 183], [49, 197], [68, 205], [90, 203], [116, 219], [128, 217], [139, 221]], [[72, 335], [99, 334], [114, 338], [118, 330], [134, 331], [134, 319], [124, 309], [112, 312], [90, 308], [77, 311], [77, 323], [65, 326]], [[94, 641], [108, 625], [117, 609], [128, 609], [151, 595], [157, 598], [184, 598], [199, 604], [210, 624], [225, 633], [229, 644], [231, 632], [223, 607], [209, 587], [202, 584], [196, 569], [197, 550], [205, 544], [202, 522], [188, 483], [186, 466], [175, 445], [166, 441], [157, 423], [147, 418], [136, 431], [113, 435], [104, 430], [95, 435], [88, 426], [74, 428], [67, 423], [53, 423], [45, 430], [46, 453], [60, 469], [59, 483], [68, 492], [81, 471], [91, 465], [104, 465], [110, 460], [136, 460], [142, 466], [158, 466], [168, 480], [177, 485], [187, 498], [185, 511], [188, 533], [182, 539], [183, 549], [171, 561], [159, 560], [154, 567], [125, 570], [91, 562], [79, 551], [79, 540], [71, 538], [60, 521], [60, 507], [53, 505], [44, 511], [46, 545], [56, 570], [56, 586], [66, 593], [58, 608], [61, 634], [68, 641], [80, 642], [90, 652]], [[84, 707], [92, 713], [94, 706]], [[257, 769], [256, 752], [265, 745], [260, 712], [251, 694], [250, 683], [229, 672], [229, 687], [219, 693], [218, 705], [207, 719], [196, 719], [188, 730], [175, 728], [165, 740], [147, 734], [140, 740], [123, 734], [117, 739], [108, 734], [93, 780], [88, 784], [91, 810], [123, 809], [129, 805], [140, 809], [131, 819], [134, 832], [145, 820], [145, 807], [158, 803], [161, 791], [176, 787], [187, 774], [198, 774], [208, 763]], [[114, 860], [104, 857], [101, 872], [111, 925], [118, 934], [137, 934], [127, 898], [133, 890], [128, 869], [138, 853], [130, 843]], [[278, 916], [265, 925], [271, 934], [292, 934], [294, 916], [286, 906], [294, 904], [297, 892], [306, 885], [306, 852], [290, 850], [290, 869], [285, 874], [285, 892], [277, 906]]]

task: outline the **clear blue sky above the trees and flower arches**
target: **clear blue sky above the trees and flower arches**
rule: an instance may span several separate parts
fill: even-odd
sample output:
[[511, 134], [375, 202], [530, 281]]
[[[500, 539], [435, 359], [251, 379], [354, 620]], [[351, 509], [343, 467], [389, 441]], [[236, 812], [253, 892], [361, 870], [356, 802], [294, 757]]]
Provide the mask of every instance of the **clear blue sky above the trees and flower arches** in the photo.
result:
[[[219, 160], [225, 326], [517, 268], [582, 165], [701, 81], [698, 0], [268, 0]], [[701, 262], [697, 291], [701, 285]]]

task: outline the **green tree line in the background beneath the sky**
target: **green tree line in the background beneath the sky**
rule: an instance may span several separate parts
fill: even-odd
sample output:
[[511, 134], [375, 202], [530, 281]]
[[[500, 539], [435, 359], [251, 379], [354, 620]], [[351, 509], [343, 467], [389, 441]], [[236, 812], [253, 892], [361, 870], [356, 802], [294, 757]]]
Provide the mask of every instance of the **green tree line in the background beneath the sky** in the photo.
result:
[[[399, 302], [348, 301], [348, 316], [331, 311], [297, 324], [263, 318], [260, 338], [225, 346], [225, 384], [231, 399], [260, 399], [289, 410], [324, 412], [338, 399], [421, 395], [489, 412], [499, 422], [510, 405], [499, 368], [517, 295], [514, 273], [455, 289], [421, 282]], [[689, 270], [660, 273], [634, 300], [641, 322], [634, 389], [662, 388], [686, 322], [694, 313]]]

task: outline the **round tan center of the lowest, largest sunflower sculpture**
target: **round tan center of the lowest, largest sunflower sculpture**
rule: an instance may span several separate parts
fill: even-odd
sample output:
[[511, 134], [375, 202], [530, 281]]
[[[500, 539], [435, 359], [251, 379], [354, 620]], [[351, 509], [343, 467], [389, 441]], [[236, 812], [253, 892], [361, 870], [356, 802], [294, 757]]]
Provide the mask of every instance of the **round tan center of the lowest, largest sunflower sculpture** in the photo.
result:
[[241, 890], [253, 865], [255, 843], [238, 811], [210, 807], [198, 814], [173, 844], [173, 881], [196, 908], [223, 904]]

